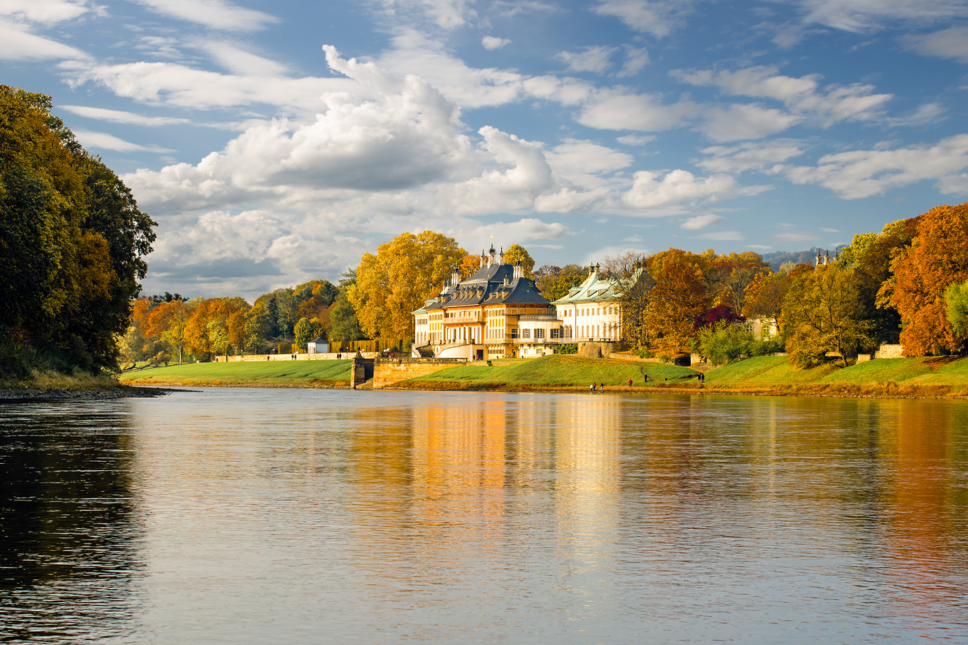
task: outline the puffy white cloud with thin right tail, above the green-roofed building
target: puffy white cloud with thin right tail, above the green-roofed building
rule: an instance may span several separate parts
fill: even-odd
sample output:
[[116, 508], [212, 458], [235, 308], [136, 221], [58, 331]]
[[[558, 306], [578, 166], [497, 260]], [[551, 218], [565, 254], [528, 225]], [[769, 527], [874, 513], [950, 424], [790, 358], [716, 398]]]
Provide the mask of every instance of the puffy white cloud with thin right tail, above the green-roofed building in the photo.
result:
[[659, 179], [659, 173], [639, 170], [632, 187], [622, 199], [633, 208], [664, 208], [722, 200], [736, 195], [755, 195], [766, 186], [740, 186], [727, 174], [695, 177], [687, 170], [673, 170]]

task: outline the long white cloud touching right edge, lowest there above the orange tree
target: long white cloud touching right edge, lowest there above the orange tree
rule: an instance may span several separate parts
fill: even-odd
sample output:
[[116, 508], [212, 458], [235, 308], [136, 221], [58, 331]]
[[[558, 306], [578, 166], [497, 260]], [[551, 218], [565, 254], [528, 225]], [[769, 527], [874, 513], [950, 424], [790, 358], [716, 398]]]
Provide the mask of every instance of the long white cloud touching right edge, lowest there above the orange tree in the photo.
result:
[[883, 195], [887, 190], [935, 180], [946, 194], [964, 195], [968, 183], [968, 135], [945, 138], [936, 145], [854, 150], [821, 157], [815, 167], [786, 168], [796, 184], [819, 184], [845, 200]]

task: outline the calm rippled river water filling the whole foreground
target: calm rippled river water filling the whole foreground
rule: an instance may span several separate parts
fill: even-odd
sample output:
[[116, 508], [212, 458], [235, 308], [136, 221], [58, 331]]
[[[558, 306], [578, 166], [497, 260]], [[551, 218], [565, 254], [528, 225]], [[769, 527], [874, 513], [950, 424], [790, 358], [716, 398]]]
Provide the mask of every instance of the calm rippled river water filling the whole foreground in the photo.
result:
[[0, 640], [968, 642], [968, 404], [0, 406]]

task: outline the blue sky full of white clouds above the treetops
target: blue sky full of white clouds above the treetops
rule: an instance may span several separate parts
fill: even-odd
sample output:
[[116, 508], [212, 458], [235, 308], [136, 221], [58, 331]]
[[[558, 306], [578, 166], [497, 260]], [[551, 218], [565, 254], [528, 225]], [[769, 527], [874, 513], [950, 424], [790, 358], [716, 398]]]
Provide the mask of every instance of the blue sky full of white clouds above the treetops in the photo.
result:
[[0, 0], [0, 59], [159, 223], [146, 292], [335, 280], [405, 230], [833, 247], [968, 195], [968, 0]]

